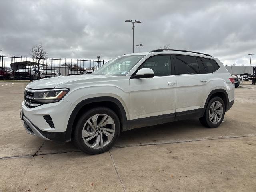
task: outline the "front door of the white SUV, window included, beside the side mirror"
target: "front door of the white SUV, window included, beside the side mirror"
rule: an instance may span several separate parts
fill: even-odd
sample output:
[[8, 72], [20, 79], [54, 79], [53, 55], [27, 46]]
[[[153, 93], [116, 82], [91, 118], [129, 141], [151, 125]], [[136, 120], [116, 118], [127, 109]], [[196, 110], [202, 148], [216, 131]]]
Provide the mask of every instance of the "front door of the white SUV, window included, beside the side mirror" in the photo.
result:
[[176, 76], [171, 56], [152, 56], [138, 70], [140, 68], [151, 68], [154, 77], [130, 79], [130, 119], [153, 116], [161, 118], [161, 115], [168, 114], [168, 117], [166, 116], [168, 120], [173, 120], [176, 105]]

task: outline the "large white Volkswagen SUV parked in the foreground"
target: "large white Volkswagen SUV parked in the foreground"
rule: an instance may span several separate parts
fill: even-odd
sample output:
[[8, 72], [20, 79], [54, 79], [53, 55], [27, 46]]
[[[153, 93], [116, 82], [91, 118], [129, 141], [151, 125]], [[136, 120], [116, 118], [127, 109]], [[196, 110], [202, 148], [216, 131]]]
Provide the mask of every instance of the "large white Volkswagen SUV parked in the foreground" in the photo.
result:
[[218, 127], [234, 103], [234, 78], [208, 54], [153, 50], [119, 56], [90, 75], [28, 84], [20, 117], [29, 134], [105, 152], [120, 132], [199, 118]]

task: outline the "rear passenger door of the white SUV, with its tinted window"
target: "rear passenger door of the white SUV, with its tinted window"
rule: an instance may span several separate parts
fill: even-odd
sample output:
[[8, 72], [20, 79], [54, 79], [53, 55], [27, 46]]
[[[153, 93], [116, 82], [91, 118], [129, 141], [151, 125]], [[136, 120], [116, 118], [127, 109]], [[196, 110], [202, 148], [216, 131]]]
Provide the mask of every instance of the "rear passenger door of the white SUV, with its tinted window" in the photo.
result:
[[208, 78], [200, 58], [174, 55], [177, 78], [176, 116], [201, 109], [208, 94]]

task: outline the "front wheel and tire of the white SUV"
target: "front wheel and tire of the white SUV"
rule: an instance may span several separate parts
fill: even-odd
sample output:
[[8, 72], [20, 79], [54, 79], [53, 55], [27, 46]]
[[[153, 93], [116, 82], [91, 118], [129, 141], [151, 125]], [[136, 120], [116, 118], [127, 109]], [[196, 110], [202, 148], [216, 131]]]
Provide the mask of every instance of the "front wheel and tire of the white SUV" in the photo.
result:
[[109, 150], [119, 134], [120, 121], [115, 112], [106, 107], [97, 107], [80, 116], [72, 141], [87, 154], [99, 154]]

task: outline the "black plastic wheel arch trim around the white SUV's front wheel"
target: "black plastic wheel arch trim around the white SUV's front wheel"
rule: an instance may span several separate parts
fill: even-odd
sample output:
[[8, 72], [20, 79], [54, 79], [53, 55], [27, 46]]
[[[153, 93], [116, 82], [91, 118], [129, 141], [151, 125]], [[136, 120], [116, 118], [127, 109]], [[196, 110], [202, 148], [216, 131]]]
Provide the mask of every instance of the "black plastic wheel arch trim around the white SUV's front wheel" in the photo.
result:
[[105, 106], [113, 110], [118, 116], [121, 124], [121, 131], [129, 130], [130, 124], [128, 123], [126, 118], [126, 112], [124, 110], [124, 106], [122, 103], [114, 98], [114, 97], [96, 97], [96, 98], [88, 98], [82, 100], [80, 103], [76, 105], [74, 110], [72, 111], [70, 118], [68, 120], [67, 130], [66, 130], [66, 141], [70, 141], [72, 138], [72, 131], [74, 130], [74, 126], [76, 125], [77, 119], [88, 109], [96, 107], [96, 106]]

